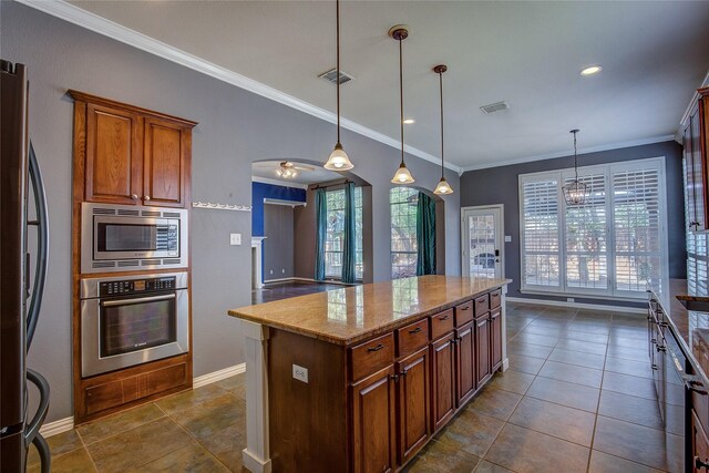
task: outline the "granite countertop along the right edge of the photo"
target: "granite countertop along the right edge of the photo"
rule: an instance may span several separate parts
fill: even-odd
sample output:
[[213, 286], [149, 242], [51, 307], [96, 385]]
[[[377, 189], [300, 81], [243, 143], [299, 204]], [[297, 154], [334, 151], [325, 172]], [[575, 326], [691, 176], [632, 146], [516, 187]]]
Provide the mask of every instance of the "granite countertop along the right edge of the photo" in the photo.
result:
[[670, 279], [669, 285], [651, 284], [650, 290], [657, 297], [667, 316], [677, 341], [692, 364], [696, 374], [709, 385], [709, 312], [687, 309], [680, 300], [709, 301], [705, 294], [698, 294], [687, 279]]

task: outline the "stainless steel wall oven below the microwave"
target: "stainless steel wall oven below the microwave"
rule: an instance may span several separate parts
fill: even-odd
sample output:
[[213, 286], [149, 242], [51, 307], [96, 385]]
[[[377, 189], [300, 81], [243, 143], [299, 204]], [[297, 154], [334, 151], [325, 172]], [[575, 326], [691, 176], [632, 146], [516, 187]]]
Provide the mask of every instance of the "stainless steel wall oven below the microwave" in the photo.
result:
[[81, 280], [81, 374], [189, 351], [187, 273]]

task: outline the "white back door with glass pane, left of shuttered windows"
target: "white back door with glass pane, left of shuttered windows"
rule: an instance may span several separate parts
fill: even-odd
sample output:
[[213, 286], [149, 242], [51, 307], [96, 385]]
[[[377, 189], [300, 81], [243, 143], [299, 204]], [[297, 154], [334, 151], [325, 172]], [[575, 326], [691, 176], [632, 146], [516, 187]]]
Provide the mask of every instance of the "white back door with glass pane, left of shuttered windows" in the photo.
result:
[[503, 206], [464, 207], [462, 214], [463, 276], [502, 278]]

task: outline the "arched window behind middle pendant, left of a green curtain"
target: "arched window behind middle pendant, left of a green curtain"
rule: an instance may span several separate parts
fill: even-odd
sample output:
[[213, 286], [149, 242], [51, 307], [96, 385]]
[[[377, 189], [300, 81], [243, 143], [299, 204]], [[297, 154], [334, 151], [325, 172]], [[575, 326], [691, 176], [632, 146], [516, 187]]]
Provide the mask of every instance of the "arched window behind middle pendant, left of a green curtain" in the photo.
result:
[[417, 205], [419, 191], [394, 187], [389, 192], [391, 205], [391, 277], [417, 275]]

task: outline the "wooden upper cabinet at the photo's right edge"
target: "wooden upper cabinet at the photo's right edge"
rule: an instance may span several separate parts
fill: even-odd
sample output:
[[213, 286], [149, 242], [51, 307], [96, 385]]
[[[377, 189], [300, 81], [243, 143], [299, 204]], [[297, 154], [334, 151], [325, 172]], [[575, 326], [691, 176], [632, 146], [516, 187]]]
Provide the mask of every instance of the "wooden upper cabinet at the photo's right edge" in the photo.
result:
[[707, 192], [709, 158], [709, 88], [697, 91], [687, 115], [682, 120], [682, 145], [686, 172], [686, 196], [689, 229], [709, 229], [709, 202]]

